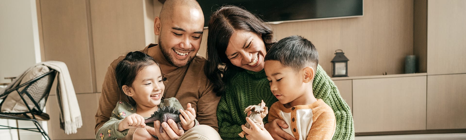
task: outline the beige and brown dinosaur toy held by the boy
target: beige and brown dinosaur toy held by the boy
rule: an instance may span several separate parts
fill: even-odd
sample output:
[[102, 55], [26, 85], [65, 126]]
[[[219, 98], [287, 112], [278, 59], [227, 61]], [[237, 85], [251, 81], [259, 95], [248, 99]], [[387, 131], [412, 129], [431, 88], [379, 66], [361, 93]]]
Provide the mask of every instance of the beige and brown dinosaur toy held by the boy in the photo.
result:
[[[249, 107], [244, 109], [244, 113], [248, 114], [248, 117], [251, 118], [251, 120], [253, 120], [254, 123], [260, 129], [262, 129], [262, 127], [264, 127], [264, 122], [262, 121], [262, 119], [264, 119], [264, 117], [268, 114], [268, 108], [265, 106], [264, 100], [262, 100], [258, 105], [250, 105]], [[244, 126], [247, 128], [251, 128], [251, 124], [249, 124], [248, 122], [246, 122]], [[246, 132], [242, 131], [238, 135], [240, 135], [241, 138], [244, 138], [245, 134]]]

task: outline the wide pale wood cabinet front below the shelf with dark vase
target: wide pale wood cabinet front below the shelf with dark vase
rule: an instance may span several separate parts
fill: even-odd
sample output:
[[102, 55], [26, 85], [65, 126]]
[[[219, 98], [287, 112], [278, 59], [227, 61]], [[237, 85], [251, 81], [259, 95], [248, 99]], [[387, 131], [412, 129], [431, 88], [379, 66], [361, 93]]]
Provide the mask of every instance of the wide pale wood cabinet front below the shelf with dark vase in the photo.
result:
[[353, 80], [355, 132], [425, 130], [426, 78]]

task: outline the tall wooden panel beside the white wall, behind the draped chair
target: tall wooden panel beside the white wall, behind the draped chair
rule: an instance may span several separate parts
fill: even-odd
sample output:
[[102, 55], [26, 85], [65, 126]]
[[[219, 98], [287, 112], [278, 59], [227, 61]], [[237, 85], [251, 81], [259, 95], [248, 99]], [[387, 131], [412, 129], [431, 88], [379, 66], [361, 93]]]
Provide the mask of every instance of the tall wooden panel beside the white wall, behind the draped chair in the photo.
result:
[[41, 0], [45, 60], [68, 66], [76, 93], [91, 93], [89, 32], [84, 0]]

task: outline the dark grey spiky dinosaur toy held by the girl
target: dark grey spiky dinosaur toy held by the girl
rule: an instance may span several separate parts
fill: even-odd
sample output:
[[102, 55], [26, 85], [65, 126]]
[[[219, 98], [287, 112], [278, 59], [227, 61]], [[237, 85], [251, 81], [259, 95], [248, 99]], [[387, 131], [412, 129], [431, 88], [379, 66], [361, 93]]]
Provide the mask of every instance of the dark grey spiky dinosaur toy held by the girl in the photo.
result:
[[[154, 112], [151, 117], [147, 118], [144, 123], [151, 123], [157, 120], [162, 123], [167, 122], [168, 119], [171, 119], [178, 124], [178, 129], [183, 129], [183, 127], [181, 127], [181, 120], [179, 119], [180, 114], [181, 113], [176, 108], [171, 106], [164, 106], [162, 108], [158, 108], [158, 110]], [[160, 133], [163, 133], [162, 129], [163, 127], [160, 125]]]

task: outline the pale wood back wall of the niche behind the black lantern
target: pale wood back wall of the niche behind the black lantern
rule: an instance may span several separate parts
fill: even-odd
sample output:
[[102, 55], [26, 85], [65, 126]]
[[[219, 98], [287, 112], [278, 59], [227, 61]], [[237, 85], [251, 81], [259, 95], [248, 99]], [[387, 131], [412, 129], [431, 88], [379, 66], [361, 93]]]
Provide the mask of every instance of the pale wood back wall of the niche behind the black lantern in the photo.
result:
[[329, 75], [337, 49], [349, 59], [349, 76], [404, 73], [404, 57], [413, 54], [413, 0], [363, 2], [363, 17], [272, 25], [275, 38], [301, 35], [310, 40]]

